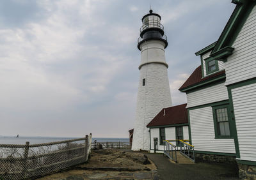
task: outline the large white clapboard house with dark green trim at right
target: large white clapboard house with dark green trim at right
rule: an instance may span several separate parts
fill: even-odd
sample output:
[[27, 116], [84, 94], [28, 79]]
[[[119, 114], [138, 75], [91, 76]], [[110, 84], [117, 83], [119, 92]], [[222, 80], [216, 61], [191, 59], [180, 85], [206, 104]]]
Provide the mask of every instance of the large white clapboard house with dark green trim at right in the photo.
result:
[[196, 158], [237, 161], [239, 174], [256, 176], [256, 1], [232, 3], [220, 38], [196, 52], [201, 65], [179, 90]]

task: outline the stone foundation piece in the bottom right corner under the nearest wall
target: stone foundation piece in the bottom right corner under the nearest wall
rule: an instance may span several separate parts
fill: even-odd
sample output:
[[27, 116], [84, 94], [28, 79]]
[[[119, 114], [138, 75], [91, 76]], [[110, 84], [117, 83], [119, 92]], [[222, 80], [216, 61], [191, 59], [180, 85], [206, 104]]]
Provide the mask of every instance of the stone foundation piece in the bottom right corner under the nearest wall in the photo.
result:
[[239, 178], [256, 179], [256, 166], [238, 164]]

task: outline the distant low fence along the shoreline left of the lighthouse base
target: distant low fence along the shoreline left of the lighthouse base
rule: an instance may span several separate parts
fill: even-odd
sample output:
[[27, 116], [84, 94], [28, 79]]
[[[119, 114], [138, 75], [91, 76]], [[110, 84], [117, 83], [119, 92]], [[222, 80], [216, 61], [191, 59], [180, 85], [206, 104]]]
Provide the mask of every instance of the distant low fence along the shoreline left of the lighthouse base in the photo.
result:
[[93, 142], [92, 149], [131, 149], [129, 142]]

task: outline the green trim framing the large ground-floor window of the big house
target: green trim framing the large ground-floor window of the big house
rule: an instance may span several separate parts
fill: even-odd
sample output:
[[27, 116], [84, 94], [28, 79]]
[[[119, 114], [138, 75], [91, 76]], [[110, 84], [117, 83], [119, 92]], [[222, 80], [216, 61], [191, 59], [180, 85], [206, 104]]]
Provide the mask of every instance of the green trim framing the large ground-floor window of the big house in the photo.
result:
[[[218, 118], [217, 118], [217, 110], [220, 109], [227, 109], [227, 118], [228, 118], [228, 133], [229, 135], [220, 135], [219, 127], [218, 127]], [[231, 130], [231, 123], [230, 123], [230, 107], [229, 105], [219, 105], [212, 107], [212, 115], [213, 115], [213, 122], [214, 122], [214, 133], [215, 133], [215, 139], [234, 139], [232, 136], [232, 130]], [[224, 119], [224, 118], [223, 118]], [[219, 121], [219, 123], [225, 123], [227, 121]], [[225, 126], [225, 125], [224, 125]]]

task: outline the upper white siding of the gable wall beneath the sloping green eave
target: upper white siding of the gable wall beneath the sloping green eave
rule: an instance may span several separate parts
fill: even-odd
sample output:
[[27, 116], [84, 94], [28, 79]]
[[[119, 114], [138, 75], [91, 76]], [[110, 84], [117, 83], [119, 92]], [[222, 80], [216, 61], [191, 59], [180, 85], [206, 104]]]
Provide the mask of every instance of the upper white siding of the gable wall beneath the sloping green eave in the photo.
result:
[[246, 20], [232, 47], [233, 54], [225, 63], [226, 84], [256, 77], [256, 6]]

